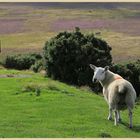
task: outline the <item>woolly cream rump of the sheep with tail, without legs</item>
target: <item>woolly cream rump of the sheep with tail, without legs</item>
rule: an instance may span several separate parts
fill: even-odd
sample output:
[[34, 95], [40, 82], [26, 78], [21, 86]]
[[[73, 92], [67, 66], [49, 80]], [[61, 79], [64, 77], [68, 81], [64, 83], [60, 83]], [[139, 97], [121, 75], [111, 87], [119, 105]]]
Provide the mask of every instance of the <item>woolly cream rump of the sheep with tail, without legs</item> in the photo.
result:
[[131, 83], [124, 79], [113, 81], [108, 86], [108, 102], [114, 109], [126, 109], [129, 104], [132, 108], [135, 102], [135, 90]]

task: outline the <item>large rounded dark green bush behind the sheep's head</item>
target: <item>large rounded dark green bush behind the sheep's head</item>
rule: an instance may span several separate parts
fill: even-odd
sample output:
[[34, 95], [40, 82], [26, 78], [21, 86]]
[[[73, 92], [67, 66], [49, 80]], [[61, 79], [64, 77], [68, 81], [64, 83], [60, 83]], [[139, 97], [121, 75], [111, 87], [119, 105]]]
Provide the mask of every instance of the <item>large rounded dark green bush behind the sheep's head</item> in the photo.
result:
[[74, 32], [61, 32], [45, 44], [47, 74], [69, 84], [93, 86], [89, 64], [111, 65], [110, 51], [105, 41], [94, 34], [84, 35], [79, 28]]

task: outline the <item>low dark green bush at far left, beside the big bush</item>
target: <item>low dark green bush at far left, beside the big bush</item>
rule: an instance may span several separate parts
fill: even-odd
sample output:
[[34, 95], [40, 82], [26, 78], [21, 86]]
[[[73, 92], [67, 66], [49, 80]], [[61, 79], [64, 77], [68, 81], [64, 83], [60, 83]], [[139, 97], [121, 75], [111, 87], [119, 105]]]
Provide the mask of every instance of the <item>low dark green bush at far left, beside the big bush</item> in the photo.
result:
[[7, 56], [4, 62], [6, 68], [25, 70], [29, 69], [36, 60], [41, 59], [40, 54], [19, 54]]

